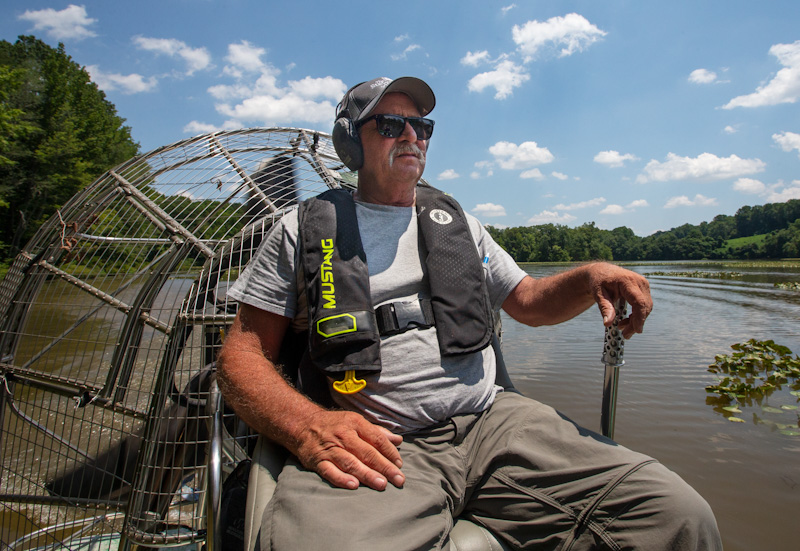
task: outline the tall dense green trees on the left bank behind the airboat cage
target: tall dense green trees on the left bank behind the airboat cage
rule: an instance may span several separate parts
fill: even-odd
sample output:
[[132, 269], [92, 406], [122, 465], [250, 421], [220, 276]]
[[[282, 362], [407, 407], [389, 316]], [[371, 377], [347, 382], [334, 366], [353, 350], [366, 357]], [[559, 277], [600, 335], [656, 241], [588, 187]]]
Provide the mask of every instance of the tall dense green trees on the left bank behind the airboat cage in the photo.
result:
[[123, 123], [63, 44], [0, 41], [0, 260], [77, 191], [138, 153]]

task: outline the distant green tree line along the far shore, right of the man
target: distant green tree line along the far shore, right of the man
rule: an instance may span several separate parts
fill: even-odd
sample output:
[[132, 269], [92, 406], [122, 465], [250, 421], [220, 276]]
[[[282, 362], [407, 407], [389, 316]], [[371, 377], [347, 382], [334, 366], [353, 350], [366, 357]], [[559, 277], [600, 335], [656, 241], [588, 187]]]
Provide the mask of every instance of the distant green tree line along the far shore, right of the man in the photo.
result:
[[625, 226], [589, 222], [498, 229], [491, 236], [517, 262], [702, 260], [800, 257], [800, 200], [744, 206], [735, 215], [638, 237]]

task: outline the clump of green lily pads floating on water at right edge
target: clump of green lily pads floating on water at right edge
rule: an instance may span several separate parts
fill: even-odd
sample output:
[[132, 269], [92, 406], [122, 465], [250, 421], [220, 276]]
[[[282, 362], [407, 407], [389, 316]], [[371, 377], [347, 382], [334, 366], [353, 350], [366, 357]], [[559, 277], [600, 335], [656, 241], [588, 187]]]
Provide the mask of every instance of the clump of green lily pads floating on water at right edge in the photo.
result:
[[[767, 425], [786, 436], [800, 436], [798, 405], [769, 404], [770, 397], [784, 401], [784, 387], [789, 389], [786, 397], [792, 396], [800, 403], [800, 358], [772, 340], [750, 339], [731, 348], [732, 354], [717, 354], [708, 367], [718, 381], [706, 387], [706, 403], [734, 423], [745, 422], [737, 416], [742, 408], [753, 408], [753, 423]], [[756, 407], [766, 417], [759, 415]]]

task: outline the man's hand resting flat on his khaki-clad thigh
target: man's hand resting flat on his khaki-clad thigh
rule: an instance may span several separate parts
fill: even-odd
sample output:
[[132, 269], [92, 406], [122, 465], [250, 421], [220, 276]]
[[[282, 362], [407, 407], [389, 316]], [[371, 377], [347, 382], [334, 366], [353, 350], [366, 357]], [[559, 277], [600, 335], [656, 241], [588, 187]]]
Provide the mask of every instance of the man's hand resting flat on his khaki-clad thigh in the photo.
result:
[[402, 488], [405, 482], [397, 449], [402, 441], [358, 413], [321, 409], [309, 415], [291, 451], [334, 486], [384, 490], [387, 483]]

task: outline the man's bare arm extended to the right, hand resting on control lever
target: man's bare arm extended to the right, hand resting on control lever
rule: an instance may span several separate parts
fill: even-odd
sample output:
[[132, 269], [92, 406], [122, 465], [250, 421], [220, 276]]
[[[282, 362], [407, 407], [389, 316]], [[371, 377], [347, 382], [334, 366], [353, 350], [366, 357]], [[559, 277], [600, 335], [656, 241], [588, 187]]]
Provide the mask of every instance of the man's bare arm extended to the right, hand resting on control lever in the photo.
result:
[[555, 325], [597, 304], [603, 324], [610, 326], [619, 298], [631, 306], [630, 316], [619, 325], [625, 338], [630, 338], [642, 332], [653, 310], [650, 284], [635, 272], [605, 262], [539, 279], [526, 276], [505, 299], [503, 310], [526, 325]]

